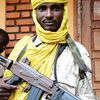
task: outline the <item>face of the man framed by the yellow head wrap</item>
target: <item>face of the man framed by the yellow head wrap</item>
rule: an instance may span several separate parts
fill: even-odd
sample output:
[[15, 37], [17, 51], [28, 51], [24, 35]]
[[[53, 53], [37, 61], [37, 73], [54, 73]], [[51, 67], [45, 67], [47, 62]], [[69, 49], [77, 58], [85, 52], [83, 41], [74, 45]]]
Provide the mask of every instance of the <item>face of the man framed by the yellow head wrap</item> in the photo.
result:
[[39, 24], [47, 31], [57, 31], [63, 19], [64, 5], [58, 3], [43, 3], [36, 8]]

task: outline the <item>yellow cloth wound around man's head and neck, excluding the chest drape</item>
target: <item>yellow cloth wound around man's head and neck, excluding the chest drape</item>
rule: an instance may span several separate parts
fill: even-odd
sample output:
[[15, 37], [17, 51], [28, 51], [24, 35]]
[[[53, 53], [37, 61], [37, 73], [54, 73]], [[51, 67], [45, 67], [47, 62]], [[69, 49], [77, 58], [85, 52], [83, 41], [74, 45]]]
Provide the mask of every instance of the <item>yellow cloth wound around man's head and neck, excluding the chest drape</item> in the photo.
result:
[[[64, 15], [61, 26], [58, 31], [51, 32], [44, 30], [36, 19], [36, 10], [35, 8], [44, 3], [44, 2], [56, 2], [56, 3], [64, 3]], [[36, 24], [36, 33], [40, 37], [43, 42], [46, 43], [65, 43], [66, 42], [66, 34], [68, 31], [68, 15], [67, 15], [67, 0], [31, 0], [33, 7], [33, 19]]]

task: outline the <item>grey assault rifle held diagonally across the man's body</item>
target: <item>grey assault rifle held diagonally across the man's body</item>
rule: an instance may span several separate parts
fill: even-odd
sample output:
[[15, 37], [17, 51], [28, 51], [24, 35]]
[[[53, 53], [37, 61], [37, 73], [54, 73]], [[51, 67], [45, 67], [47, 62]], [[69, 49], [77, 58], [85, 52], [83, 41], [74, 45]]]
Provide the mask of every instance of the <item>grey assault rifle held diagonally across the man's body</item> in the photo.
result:
[[38, 87], [48, 93], [49, 100], [81, 100], [71, 92], [65, 90], [58, 83], [55, 83], [53, 80], [31, 68], [26, 63], [13, 63], [11, 60], [0, 56], [0, 67], [3, 67], [4, 70], [9, 69], [14, 74], [12, 78], [8, 80], [8, 84], [18, 84], [21, 80], [24, 80], [28, 84]]

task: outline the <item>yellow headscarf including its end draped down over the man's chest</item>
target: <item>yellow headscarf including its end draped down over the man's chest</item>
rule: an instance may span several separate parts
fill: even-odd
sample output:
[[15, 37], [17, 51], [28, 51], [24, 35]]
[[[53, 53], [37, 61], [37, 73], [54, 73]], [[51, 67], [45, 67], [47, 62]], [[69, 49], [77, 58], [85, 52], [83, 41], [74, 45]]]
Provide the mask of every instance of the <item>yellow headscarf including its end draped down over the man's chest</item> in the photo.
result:
[[[35, 8], [44, 2], [56, 2], [65, 4], [63, 20], [60, 28], [56, 32], [44, 30], [36, 19]], [[47, 77], [50, 77], [52, 72], [51, 66], [55, 59], [58, 44], [66, 43], [66, 34], [68, 31], [67, 0], [31, 0], [31, 3], [33, 7], [33, 19], [36, 25], [36, 33], [44, 43], [39, 47], [34, 46], [33, 48], [29, 49], [25, 56], [28, 57], [32, 67]]]

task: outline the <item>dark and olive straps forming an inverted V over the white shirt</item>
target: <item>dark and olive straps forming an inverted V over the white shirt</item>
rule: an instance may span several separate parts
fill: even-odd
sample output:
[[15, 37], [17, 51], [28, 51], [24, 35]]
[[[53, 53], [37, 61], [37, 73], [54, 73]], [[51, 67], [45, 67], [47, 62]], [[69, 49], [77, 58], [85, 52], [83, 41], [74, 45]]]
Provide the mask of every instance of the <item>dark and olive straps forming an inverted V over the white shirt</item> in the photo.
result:
[[78, 47], [76, 46], [75, 42], [72, 40], [72, 38], [70, 37], [69, 34], [67, 34], [67, 43], [66, 44], [60, 44], [58, 46], [58, 51], [55, 57], [55, 61], [54, 61], [54, 77], [55, 77], [55, 82], [57, 82], [57, 72], [56, 72], [56, 64], [57, 64], [57, 59], [60, 56], [60, 54], [63, 52], [63, 50], [65, 49], [65, 47], [68, 45], [68, 47], [70, 48], [72, 55], [74, 57], [75, 63], [77, 63], [79, 65], [79, 75], [80, 78], [83, 79], [85, 76], [85, 72], [91, 72], [91, 70], [86, 66], [86, 64], [84, 63], [82, 56], [80, 54], [80, 51], [78, 49]]

